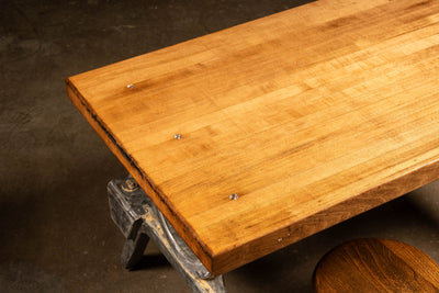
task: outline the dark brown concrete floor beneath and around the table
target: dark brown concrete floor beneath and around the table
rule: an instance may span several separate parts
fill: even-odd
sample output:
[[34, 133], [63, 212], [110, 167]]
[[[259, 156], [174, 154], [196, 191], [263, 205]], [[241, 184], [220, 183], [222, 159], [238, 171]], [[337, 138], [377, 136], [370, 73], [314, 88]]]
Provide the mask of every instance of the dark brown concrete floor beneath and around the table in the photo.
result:
[[[120, 266], [105, 187], [124, 168], [66, 97], [64, 79], [299, 4], [286, 0], [0, 0], [0, 291], [190, 292], [151, 245]], [[318, 259], [358, 237], [439, 261], [432, 183], [225, 275], [228, 292], [308, 292]]]

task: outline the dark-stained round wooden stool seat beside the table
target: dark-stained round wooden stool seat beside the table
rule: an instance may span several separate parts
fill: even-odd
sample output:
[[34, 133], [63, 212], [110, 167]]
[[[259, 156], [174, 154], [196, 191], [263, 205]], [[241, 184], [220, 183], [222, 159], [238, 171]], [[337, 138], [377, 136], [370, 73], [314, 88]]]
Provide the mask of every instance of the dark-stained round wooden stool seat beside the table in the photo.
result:
[[439, 266], [399, 241], [359, 239], [323, 257], [313, 283], [316, 292], [438, 292]]

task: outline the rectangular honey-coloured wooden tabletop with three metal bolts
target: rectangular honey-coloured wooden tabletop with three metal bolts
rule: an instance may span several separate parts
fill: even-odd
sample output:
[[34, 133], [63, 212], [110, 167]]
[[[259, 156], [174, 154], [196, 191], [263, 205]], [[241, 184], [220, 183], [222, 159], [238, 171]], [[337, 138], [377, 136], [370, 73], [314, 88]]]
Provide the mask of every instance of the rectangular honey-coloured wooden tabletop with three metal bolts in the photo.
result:
[[219, 274], [439, 178], [438, 22], [437, 0], [320, 0], [67, 91]]

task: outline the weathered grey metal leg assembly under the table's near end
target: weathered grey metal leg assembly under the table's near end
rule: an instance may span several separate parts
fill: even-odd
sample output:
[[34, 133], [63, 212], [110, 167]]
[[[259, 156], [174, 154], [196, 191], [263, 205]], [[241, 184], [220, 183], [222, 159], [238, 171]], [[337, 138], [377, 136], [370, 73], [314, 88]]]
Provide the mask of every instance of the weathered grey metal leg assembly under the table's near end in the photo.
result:
[[122, 252], [125, 268], [138, 263], [151, 238], [193, 292], [226, 292], [223, 275], [211, 275], [133, 178], [112, 180], [108, 191], [111, 217], [127, 239]]

